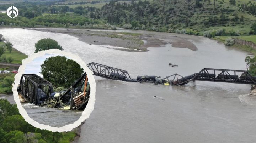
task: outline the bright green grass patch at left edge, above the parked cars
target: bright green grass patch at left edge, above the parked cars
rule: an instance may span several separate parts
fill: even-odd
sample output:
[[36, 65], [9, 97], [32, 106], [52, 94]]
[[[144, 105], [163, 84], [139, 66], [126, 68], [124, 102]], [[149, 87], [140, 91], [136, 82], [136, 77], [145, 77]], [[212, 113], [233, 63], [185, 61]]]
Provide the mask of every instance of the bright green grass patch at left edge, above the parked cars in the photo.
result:
[[[4, 42], [0, 42], [0, 46], [2, 46], [4, 44], [5, 44]], [[14, 58], [14, 61], [12, 61], [11, 63], [15, 63], [15, 64], [21, 64], [22, 63], [21, 60], [28, 57], [27, 55], [21, 53], [20, 51], [16, 50], [15, 48], [12, 48], [11, 53], [6, 50], [2, 56]]]

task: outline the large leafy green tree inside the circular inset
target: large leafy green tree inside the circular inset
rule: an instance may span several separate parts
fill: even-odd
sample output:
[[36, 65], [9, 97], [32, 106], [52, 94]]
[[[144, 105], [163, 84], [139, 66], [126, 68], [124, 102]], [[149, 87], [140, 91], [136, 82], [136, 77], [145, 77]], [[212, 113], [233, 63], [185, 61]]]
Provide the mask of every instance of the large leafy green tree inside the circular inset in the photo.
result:
[[74, 60], [64, 56], [47, 58], [41, 64], [44, 79], [52, 82], [54, 87], [69, 88], [84, 72]]

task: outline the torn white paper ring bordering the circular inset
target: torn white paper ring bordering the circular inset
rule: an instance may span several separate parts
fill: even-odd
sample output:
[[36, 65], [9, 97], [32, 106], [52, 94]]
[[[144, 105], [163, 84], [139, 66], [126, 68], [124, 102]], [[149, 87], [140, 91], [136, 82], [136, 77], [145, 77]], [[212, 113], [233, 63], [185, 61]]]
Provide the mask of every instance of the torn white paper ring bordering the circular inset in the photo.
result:
[[[18, 96], [17, 88], [18, 88], [18, 84], [20, 84], [21, 76], [25, 72], [25, 67], [26, 67], [27, 64], [32, 62], [35, 58], [44, 56], [45, 54], [60, 54], [60, 55], [66, 56], [66, 57], [70, 57], [71, 59], [76, 61], [78, 64], [80, 64], [81, 68], [84, 69], [84, 71], [86, 72], [86, 74], [88, 76], [88, 82], [90, 82], [90, 87], [91, 87], [90, 99], [88, 101], [88, 104], [87, 104], [86, 108], [82, 112], [82, 115], [80, 116], [80, 118], [77, 121], [75, 121], [73, 124], [65, 125], [65, 126], [62, 126], [62, 127], [52, 127], [52, 126], [49, 126], [49, 125], [39, 124], [37, 121], [34, 121], [33, 119], [31, 119], [28, 116], [26, 110], [21, 105], [21, 102], [20, 102], [20, 99], [19, 99], [19, 96]], [[95, 79], [94, 79], [94, 76], [93, 76], [93, 72], [87, 67], [86, 63], [79, 56], [74, 55], [74, 54], [69, 53], [69, 52], [64, 52], [64, 51], [61, 51], [61, 50], [58, 50], [58, 49], [51, 49], [51, 50], [38, 52], [36, 54], [33, 54], [33, 55], [29, 56], [26, 59], [23, 59], [22, 60], [22, 65], [18, 69], [18, 73], [15, 75], [14, 84], [12, 84], [12, 85], [13, 85], [12, 92], [13, 92], [13, 96], [14, 96], [14, 101], [17, 104], [17, 107], [18, 107], [18, 110], [20, 111], [20, 114], [23, 116], [25, 121], [27, 121], [29, 124], [31, 124], [32, 126], [34, 126], [36, 128], [45, 129], [45, 130], [49, 130], [49, 131], [52, 131], [52, 132], [71, 131], [73, 128], [78, 127], [81, 124], [81, 122], [83, 122], [87, 118], [89, 118], [91, 112], [94, 110], [96, 82], [95, 82]]]

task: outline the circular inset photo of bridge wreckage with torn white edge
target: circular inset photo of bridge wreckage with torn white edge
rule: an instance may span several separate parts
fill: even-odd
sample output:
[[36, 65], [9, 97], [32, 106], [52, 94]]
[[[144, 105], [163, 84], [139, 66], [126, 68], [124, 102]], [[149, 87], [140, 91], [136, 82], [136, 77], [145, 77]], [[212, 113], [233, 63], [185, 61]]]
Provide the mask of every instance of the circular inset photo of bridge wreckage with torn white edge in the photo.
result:
[[47, 50], [23, 61], [15, 76], [15, 102], [27, 122], [51, 131], [70, 131], [94, 109], [95, 79], [78, 57]]

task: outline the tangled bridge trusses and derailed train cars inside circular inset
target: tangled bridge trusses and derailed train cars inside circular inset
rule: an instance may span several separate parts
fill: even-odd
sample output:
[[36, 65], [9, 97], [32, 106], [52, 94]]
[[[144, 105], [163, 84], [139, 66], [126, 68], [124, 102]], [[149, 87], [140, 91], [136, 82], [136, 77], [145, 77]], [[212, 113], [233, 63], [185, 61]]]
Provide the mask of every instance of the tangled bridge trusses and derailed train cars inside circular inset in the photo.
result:
[[18, 94], [28, 103], [47, 108], [84, 110], [90, 98], [90, 85], [84, 73], [68, 90], [53, 92], [49, 81], [36, 74], [23, 74]]

